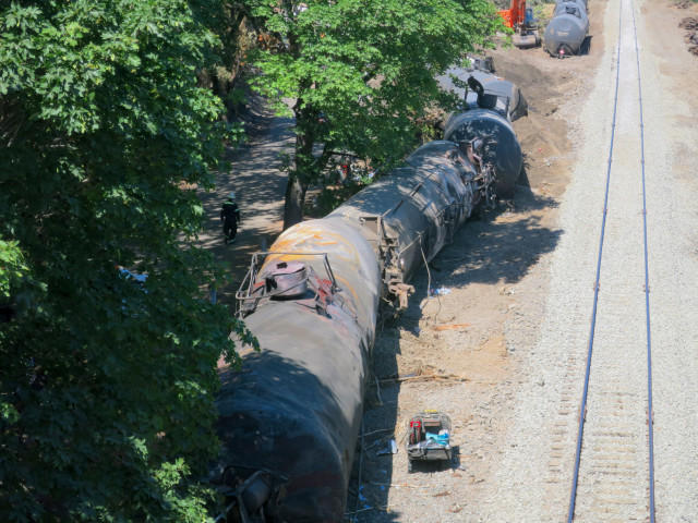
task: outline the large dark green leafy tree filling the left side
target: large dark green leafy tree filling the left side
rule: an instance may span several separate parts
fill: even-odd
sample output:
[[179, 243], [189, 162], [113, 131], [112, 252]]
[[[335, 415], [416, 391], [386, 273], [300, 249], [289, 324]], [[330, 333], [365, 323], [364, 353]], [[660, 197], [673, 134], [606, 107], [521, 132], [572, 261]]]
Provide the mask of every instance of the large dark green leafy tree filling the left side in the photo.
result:
[[206, 516], [216, 362], [250, 341], [192, 246], [227, 133], [196, 80], [216, 5], [0, 8], [2, 521]]

